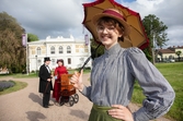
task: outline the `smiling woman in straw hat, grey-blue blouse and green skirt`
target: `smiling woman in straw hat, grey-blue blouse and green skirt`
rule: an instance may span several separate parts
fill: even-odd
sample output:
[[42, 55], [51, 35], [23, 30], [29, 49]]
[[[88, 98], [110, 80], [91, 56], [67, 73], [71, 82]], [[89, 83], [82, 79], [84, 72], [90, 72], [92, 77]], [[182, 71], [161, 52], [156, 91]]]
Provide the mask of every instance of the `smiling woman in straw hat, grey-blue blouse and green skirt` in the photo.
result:
[[[167, 113], [175, 93], [158, 69], [137, 47], [122, 48], [119, 41], [130, 34], [123, 13], [106, 9], [93, 16], [104, 55], [95, 58], [91, 71], [91, 86], [82, 83], [82, 71], [70, 78], [92, 102], [89, 121], [149, 121]], [[146, 98], [135, 112], [127, 108], [137, 81]]]

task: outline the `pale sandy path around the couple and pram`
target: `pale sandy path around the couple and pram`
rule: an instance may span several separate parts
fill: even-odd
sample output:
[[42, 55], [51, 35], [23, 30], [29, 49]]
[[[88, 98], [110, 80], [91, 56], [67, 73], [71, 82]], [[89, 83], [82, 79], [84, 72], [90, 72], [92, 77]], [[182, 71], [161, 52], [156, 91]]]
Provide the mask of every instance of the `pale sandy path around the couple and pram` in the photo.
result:
[[[89, 85], [89, 74], [84, 74], [84, 83]], [[49, 108], [42, 107], [42, 95], [38, 93], [38, 77], [35, 78], [12, 78], [4, 77], [0, 80], [13, 80], [26, 82], [28, 85], [24, 89], [0, 96], [0, 121], [87, 121], [89, 118], [92, 102], [79, 92], [79, 101], [72, 107], [56, 105]], [[53, 82], [54, 83], [54, 82]], [[50, 99], [50, 104], [54, 104]], [[138, 106], [130, 104], [130, 110], [135, 111]], [[171, 121], [160, 118], [156, 121]]]

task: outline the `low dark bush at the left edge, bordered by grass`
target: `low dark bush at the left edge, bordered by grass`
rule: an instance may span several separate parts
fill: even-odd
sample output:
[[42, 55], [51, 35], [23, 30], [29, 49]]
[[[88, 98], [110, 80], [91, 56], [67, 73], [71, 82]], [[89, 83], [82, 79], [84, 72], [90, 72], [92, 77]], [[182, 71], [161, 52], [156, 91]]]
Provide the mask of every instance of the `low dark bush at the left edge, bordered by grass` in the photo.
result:
[[14, 84], [15, 83], [13, 81], [0, 81], [0, 92], [2, 92], [5, 88], [14, 86]]

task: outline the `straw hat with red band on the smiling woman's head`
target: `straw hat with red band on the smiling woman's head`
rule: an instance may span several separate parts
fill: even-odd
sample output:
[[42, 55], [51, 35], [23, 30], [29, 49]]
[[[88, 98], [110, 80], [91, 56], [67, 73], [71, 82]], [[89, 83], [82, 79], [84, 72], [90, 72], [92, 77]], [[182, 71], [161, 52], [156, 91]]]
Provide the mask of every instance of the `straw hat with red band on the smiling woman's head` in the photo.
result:
[[92, 19], [93, 24], [96, 25], [99, 19], [101, 19], [103, 16], [108, 16], [108, 17], [115, 19], [117, 22], [119, 22], [125, 27], [124, 36], [129, 35], [130, 26], [127, 24], [126, 19], [123, 15], [123, 13], [121, 13], [119, 11], [117, 11], [115, 9], [106, 9], [102, 13], [99, 13], [99, 14], [93, 16], [93, 19]]

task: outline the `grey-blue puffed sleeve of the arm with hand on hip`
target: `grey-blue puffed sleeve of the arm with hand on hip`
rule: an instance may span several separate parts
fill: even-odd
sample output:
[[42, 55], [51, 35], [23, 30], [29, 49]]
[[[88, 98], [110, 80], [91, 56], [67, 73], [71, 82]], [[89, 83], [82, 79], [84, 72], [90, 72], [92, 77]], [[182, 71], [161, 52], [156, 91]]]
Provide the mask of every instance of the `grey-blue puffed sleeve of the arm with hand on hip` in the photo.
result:
[[135, 121], [149, 121], [165, 114], [175, 93], [169, 82], [138, 48], [127, 50], [127, 62], [144, 90], [142, 107], [133, 113]]

